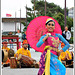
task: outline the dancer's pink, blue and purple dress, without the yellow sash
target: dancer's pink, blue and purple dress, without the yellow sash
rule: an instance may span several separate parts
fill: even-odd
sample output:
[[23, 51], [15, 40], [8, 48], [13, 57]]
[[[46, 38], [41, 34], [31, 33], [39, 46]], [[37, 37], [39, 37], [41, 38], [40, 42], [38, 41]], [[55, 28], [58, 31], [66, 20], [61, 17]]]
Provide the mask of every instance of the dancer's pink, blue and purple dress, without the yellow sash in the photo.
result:
[[[46, 32], [48, 33], [48, 32]], [[63, 51], [66, 51], [69, 48], [69, 43], [63, 38], [62, 35], [60, 34], [55, 34], [54, 32], [51, 33], [51, 36], [49, 36], [47, 38], [47, 40], [45, 42], [43, 42], [43, 38], [46, 36], [43, 35], [39, 42], [37, 43], [37, 47], [40, 47], [43, 43], [45, 43], [45, 45], [48, 45], [51, 47], [50, 50], [50, 71], [48, 71], [49, 75], [65, 75], [66, 73], [66, 68], [65, 66], [58, 60], [58, 56], [57, 56], [57, 51], [58, 51], [58, 46], [59, 46], [59, 40], [64, 42], [65, 47], [62, 49]], [[46, 65], [46, 54], [47, 54], [47, 50], [45, 50], [40, 58], [40, 69], [38, 72], [38, 75], [46, 75], [45, 74], [45, 65]], [[48, 65], [49, 66], [49, 65]], [[48, 70], [48, 69], [47, 69]]]

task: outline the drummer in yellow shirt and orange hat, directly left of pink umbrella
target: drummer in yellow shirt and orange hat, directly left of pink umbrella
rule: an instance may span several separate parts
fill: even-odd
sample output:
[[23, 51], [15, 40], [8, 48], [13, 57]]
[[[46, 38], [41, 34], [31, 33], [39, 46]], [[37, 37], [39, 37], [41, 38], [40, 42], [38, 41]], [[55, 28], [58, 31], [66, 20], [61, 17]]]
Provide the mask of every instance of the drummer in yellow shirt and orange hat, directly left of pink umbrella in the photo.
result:
[[18, 57], [19, 54], [22, 54], [22, 55], [29, 56], [31, 58], [31, 53], [29, 50], [27, 50], [27, 48], [28, 48], [28, 42], [27, 40], [24, 40], [22, 43], [22, 48], [18, 49], [14, 56]]

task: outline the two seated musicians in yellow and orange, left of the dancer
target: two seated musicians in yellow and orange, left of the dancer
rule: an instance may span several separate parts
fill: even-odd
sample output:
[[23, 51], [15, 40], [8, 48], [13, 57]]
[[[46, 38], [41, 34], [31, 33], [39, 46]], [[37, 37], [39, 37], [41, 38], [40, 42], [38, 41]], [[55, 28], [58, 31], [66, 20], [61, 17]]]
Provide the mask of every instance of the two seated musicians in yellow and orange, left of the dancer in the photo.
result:
[[[14, 52], [14, 49], [8, 48], [7, 44], [8, 44], [8, 42], [6, 40], [3, 41], [3, 47], [2, 47], [2, 64], [3, 65], [6, 64], [7, 66], [9, 66], [11, 57], [14, 57], [15, 59], [18, 60], [20, 55], [28, 56], [29, 59], [31, 59], [31, 53], [27, 49], [28, 48], [27, 40], [24, 40], [22, 42], [22, 48], [19, 48], [16, 53]], [[28, 58], [28, 57], [26, 57], [26, 58]]]

